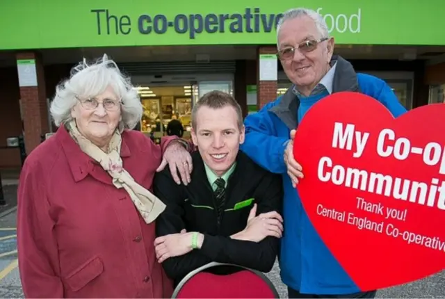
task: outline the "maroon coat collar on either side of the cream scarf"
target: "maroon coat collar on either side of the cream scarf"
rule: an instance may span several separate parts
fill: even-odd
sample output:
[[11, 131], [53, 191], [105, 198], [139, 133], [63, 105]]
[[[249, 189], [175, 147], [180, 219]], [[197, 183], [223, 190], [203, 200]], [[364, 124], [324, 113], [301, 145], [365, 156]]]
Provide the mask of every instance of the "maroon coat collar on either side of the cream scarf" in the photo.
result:
[[[125, 131], [122, 132], [122, 146], [120, 149], [120, 156], [122, 158], [131, 156], [131, 151], [127, 144], [126, 137], [127, 134], [125, 134]], [[88, 173], [95, 168], [95, 165], [100, 167], [99, 163], [82, 152], [81, 148], [67, 132], [64, 125], [61, 125], [58, 128], [55, 136], [51, 138], [55, 138], [58, 143], [60, 143], [75, 181], [81, 181], [84, 179]]]

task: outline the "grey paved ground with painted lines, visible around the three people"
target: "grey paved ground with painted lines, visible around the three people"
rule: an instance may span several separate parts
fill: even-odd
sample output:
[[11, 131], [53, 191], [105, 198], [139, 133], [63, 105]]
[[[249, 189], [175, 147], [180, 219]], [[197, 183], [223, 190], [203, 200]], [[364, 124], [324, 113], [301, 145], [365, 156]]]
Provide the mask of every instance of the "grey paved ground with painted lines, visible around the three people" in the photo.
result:
[[[0, 298], [24, 298], [17, 268], [16, 204], [17, 185], [3, 185], [6, 206], [0, 206]], [[286, 286], [280, 279], [277, 263], [266, 274], [280, 298], [286, 298]], [[378, 291], [376, 298], [445, 298], [445, 271], [423, 280]]]

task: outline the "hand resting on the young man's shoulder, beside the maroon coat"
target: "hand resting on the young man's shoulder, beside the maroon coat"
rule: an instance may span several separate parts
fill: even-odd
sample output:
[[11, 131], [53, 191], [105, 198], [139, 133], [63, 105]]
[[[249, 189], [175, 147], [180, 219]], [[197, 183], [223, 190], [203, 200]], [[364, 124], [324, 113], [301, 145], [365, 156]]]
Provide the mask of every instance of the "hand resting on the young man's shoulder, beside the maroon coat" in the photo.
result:
[[[187, 149], [185, 149], [177, 140], [172, 140], [165, 149], [161, 165], [159, 165], [156, 172], [163, 170], [167, 164], [168, 167], [170, 167], [170, 172], [172, 173], [172, 177], [175, 179], [176, 184], [181, 184], [181, 179], [184, 185], [190, 183], [190, 174], [193, 170], [192, 157]], [[181, 179], [179, 179], [178, 171], [181, 175]]]

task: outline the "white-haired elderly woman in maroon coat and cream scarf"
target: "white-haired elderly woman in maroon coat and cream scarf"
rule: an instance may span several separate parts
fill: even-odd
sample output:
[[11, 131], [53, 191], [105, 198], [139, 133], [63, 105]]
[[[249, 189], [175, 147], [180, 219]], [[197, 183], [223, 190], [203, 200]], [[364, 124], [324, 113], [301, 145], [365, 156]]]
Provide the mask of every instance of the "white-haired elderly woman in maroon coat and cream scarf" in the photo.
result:
[[190, 180], [187, 143], [168, 137], [159, 146], [131, 130], [142, 105], [106, 56], [75, 70], [51, 103], [56, 134], [31, 152], [19, 181], [24, 295], [168, 298], [172, 284], [153, 245], [165, 206], [152, 181], [166, 163]]

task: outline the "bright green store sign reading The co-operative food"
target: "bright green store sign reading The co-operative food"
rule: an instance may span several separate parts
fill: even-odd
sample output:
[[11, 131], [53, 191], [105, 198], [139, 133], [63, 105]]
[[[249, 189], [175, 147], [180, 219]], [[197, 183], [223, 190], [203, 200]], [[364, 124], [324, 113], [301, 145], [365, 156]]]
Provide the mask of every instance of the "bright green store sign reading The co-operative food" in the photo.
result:
[[337, 44], [445, 45], [445, 1], [2, 0], [0, 50], [273, 45], [296, 6], [321, 13]]

